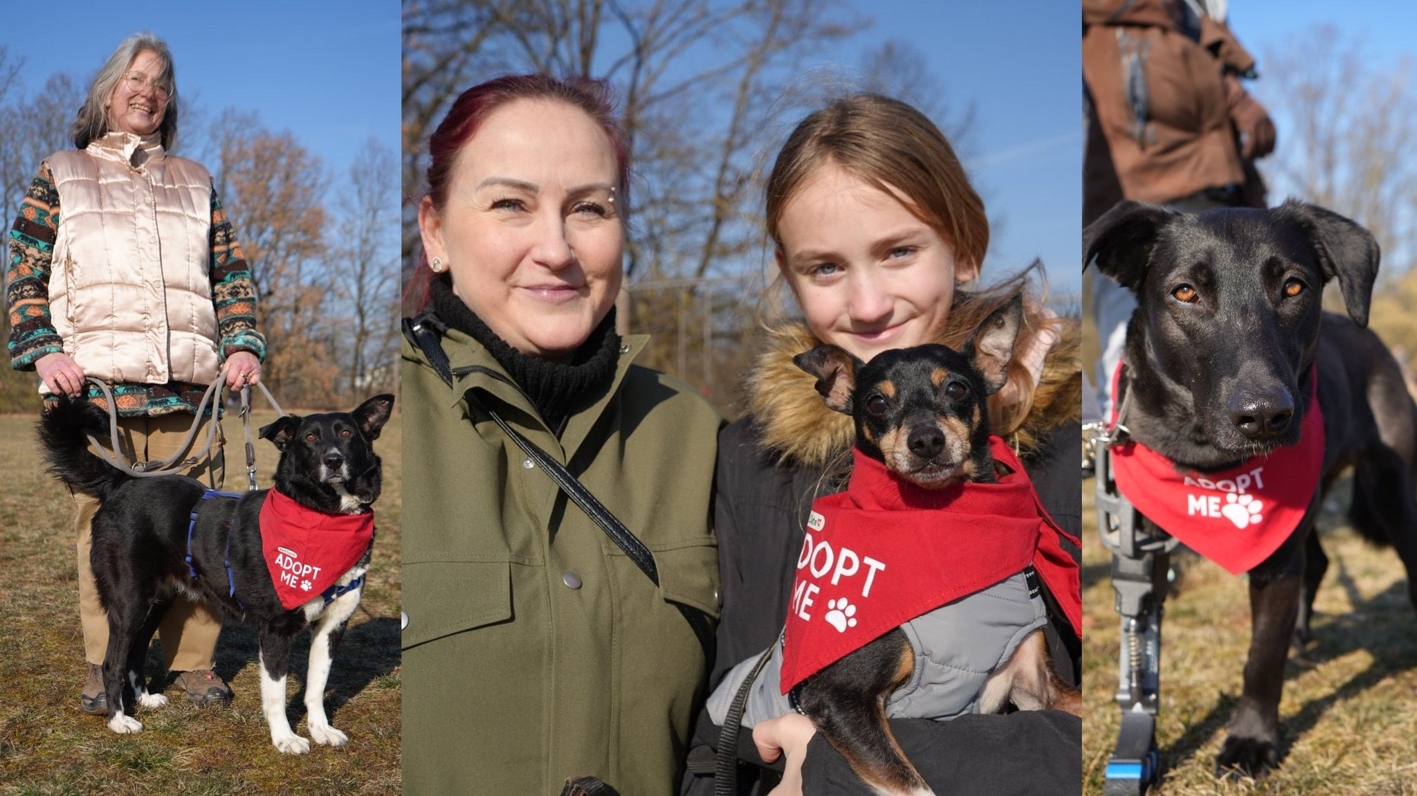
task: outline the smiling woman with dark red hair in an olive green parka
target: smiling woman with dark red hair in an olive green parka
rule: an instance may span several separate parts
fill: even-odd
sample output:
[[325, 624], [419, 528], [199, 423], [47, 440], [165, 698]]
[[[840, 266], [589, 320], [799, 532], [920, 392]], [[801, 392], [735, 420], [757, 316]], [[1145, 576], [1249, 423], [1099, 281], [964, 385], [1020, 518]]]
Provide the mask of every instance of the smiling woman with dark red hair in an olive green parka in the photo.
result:
[[402, 365], [404, 788], [670, 793], [718, 613], [723, 421], [615, 331], [625, 133], [605, 84], [517, 75], [463, 92], [429, 150]]

